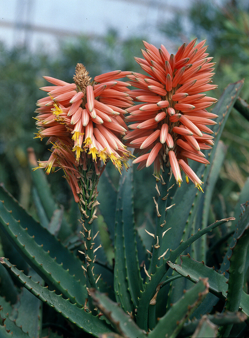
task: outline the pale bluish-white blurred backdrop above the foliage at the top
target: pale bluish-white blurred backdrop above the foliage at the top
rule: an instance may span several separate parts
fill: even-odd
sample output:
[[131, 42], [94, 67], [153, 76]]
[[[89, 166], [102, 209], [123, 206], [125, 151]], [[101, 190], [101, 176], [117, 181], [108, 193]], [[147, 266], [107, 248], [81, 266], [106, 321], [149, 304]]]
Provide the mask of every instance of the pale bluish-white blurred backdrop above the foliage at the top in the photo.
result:
[[[186, 11], [193, 0], [0, 0], [0, 41], [6, 48], [26, 41], [32, 50], [40, 46], [54, 52], [58, 40], [86, 34], [105, 35], [109, 28], [121, 39], [139, 36], [150, 43], [165, 43], [161, 20], [175, 9]], [[200, 0], [201, 2], [201, 0]], [[23, 25], [30, 25], [24, 30]]]

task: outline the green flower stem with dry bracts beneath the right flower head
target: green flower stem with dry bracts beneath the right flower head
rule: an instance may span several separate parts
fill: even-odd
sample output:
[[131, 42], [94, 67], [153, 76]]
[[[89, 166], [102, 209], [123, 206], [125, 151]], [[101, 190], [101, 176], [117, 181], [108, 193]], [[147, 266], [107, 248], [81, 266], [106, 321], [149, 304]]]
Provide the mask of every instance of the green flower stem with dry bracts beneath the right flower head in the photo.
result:
[[158, 203], [156, 204], [157, 208], [157, 220], [155, 226], [155, 234], [153, 241], [153, 250], [152, 250], [152, 258], [151, 258], [151, 269], [150, 273], [154, 274], [157, 266], [160, 265], [159, 254], [161, 252], [160, 245], [162, 243], [162, 236], [165, 229], [165, 221], [166, 221], [166, 207], [167, 207], [167, 194], [169, 187], [169, 170], [170, 167], [166, 167], [164, 163], [164, 172], [161, 176], [161, 181], [158, 182], [160, 184], [159, 192], [160, 196], [158, 198]]

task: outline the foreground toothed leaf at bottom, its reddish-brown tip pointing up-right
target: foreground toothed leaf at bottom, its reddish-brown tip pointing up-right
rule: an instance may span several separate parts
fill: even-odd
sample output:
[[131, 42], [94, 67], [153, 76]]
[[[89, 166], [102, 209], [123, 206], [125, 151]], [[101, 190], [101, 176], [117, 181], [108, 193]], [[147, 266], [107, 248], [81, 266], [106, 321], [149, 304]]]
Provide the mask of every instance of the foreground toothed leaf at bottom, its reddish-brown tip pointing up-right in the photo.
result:
[[177, 337], [184, 322], [208, 293], [207, 279], [200, 280], [173, 304], [167, 313], [159, 319], [155, 329], [148, 338]]

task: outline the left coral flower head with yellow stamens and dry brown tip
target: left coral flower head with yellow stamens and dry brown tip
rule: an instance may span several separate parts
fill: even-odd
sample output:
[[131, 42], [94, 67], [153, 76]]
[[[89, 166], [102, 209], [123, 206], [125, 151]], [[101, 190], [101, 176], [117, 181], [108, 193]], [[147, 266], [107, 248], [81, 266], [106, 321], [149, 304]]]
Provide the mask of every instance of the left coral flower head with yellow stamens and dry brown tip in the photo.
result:
[[37, 137], [47, 137], [53, 146], [50, 158], [39, 161], [39, 167], [47, 173], [62, 168], [76, 201], [79, 166], [86, 170], [87, 162], [94, 162], [97, 174], [108, 160], [119, 171], [123, 163], [127, 166], [130, 152], [120, 141], [127, 131], [122, 108], [133, 103], [125, 93], [129, 84], [117, 79], [128, 74], [113, 71], [91, 82], [85, 67], [78, 64], [74, 83], [44, 76], [54, 86], [40, 88], [47, 96], [37, 101]]

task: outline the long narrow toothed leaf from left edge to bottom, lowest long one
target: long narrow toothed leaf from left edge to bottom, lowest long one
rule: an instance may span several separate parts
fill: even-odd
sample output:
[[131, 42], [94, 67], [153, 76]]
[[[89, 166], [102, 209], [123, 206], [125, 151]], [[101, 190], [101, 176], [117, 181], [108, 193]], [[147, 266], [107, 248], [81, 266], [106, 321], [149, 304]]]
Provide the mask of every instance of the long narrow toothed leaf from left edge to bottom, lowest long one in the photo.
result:
[[48, 287], [43, 287], [39, 282], [34, 282], [30, 277], [9, 263], [6, 258], [1, 258], [0, 262], [6, 268], [10, 269], [10, 272], [29, 292], [61, 313], [66, 319], [76, 324], [79, 328], [95, 336], [99, 336], [100, 333], [103, 332], [112, 331], [109, 325], [99, 319], [98, 316], [93, 316], [91, 313], [86, 312], [84, 308], [79, 308], [76, 304], [71, 304], [69, 299], [64, 299], [62, 295], [57, 295], [55, 291], [48, 290]]

